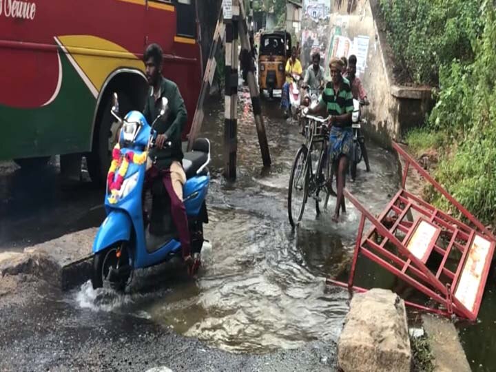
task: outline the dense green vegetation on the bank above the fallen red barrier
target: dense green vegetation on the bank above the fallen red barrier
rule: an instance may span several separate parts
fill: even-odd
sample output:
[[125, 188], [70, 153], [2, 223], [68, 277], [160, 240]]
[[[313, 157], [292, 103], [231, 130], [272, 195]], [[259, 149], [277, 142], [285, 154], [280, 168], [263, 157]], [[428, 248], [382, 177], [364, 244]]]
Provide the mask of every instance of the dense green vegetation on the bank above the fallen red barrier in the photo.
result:
[[[407, 141], [435, 149], [433, 175], [484, 223], [496, 222], [496, 11], [483, 0], [380, 0], [395, 59], [437, 103]], [[448, 209], [446, 200], [431, 201]]]

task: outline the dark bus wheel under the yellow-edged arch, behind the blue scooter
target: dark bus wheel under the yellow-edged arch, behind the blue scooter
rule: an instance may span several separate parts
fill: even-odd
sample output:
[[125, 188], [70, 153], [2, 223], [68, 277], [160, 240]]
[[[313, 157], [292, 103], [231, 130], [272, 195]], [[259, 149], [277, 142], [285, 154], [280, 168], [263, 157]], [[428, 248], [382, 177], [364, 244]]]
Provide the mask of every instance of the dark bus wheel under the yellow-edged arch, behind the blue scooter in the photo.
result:
[[[130, 99], [123, 93], [118, 94], [121, 114], [127, 114], [130, 110]], [[112, 96], [109, 96], [105, 102], [101, 114], [100, 123], [97, 123], [96, 132], [93, 134], [93, 149], [87, 157], [88, 173], [94, 183], [105, 185], [107, 172], [112, 161], [112, 149], [118, 141], [118, 133], [121, 130], [121, 124], [116, 121], [110, 113], [112, 108]]]

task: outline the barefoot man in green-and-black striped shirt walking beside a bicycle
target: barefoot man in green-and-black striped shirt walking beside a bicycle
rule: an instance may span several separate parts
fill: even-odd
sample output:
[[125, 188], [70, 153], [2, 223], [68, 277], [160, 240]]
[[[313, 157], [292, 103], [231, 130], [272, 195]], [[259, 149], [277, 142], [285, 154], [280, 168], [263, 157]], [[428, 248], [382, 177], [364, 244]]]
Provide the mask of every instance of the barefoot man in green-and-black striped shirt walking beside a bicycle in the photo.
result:
[[[319, 105], [308, 109], [309, 114], [313, 114], [326, 107], [331, 116], [329, 125], [329, 158], [333, 163], [338, 183], [338, 198], [334, 210], [333, 221], [338, 222], [340, 207], [346, 211], [344, 205], [344, 185], [346, 184], [346, 172], [351, 147], [353, 145], [353, 132], [351, 131], [351, 113], [353, 112], [353, 95], [351, 86], [347, 79], [342, 77], [344, 62], [341, 59], [333, 58], [329, 63], [331, 71], [331, 81], [329, 81], [320, 96]], [[337, 172], [336, 172], [337, 168]]]

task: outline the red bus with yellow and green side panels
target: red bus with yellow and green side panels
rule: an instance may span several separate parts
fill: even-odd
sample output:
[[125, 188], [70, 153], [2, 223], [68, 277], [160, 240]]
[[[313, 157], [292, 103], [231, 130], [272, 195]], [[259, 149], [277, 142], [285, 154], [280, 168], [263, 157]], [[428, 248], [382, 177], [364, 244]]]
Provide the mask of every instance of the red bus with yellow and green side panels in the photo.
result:
[[103, 180], [119, 129], [112, 92], [123, 112], [143, 109], [149, 43], [185, 99], [185, 135], [202, 76], [197, 19], [194, 0], [0, 0], [0, 160], [84, 155]]

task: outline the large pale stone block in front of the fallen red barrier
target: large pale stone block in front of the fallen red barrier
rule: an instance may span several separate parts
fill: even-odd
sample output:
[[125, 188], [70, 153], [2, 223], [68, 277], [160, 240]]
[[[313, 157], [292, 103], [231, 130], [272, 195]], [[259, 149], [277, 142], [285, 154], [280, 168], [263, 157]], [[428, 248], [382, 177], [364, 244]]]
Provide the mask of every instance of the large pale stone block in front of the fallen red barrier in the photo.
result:
[[358, 293], [338, 342], [344, 372], [410, 371], [411, 349], [404, 302], [386, 289]]

